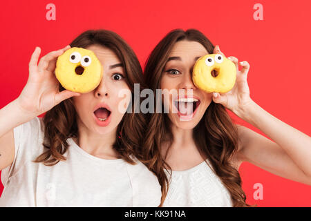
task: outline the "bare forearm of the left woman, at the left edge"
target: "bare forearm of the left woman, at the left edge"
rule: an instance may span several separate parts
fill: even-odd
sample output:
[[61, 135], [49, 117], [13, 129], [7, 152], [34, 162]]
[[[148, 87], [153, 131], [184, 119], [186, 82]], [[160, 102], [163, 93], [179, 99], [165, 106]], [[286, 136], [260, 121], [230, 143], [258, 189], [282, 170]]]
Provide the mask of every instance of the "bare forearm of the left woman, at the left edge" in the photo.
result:
[[0, 110], [0, 137], [34, 117], [36, 117], [34, 113], [22, 111], [15, 99]]

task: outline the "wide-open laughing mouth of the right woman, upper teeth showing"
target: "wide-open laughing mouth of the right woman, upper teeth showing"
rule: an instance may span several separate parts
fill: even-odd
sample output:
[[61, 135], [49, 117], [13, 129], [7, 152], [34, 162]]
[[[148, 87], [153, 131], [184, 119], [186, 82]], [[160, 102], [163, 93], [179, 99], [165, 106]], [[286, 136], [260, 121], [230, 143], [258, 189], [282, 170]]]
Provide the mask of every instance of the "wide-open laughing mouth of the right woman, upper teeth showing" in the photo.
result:
[[178, 110], [178, 114], [189, 116], [194, 115], [200, 105], [200, 100], [194, 97], [179, 98], [174, 101], [174, 104]]

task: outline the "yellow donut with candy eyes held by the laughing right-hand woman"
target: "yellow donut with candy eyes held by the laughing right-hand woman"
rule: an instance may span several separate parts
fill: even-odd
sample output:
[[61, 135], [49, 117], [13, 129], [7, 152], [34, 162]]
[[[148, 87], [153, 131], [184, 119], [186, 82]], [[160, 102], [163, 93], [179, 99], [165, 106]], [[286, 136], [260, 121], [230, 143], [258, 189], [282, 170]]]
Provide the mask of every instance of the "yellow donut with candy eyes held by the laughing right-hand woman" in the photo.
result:
[[[218, 73], [216, 77], [211, 75], [213, 70]], [[197, 88], [207, 93], [227, 93], [236, 82], [236, 66], [223, 55], [205, 55], [194, 64], [192, 79]]]

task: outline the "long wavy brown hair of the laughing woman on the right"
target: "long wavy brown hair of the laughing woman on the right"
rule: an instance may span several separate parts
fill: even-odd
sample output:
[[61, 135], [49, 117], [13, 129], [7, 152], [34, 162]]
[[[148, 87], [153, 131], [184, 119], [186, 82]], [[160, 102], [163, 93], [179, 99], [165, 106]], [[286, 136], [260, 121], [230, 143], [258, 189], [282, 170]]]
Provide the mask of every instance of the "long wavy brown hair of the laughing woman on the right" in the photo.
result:
[[[210, 54], [214, 51], [211, 41], [198, 30], [176, 29], [169, 32], [153, 49], [144, 68], [144, 80], [155, 94], [156, 89], [160, 89], [160, 80], [171, 50], [177, 41], [182, 40], [197, 41]], [[159, 99], [159, 97], [155, 97], [155, 99]], [[156, 105], [162, 105], [162, 103], [156, 102]], [[161, 108], [163, 110], [163, 106]], [[171, 171], [171, 168], [165, 162], [160, 150], [164, 142], [168, 142], [171, 146], [173, 134], [170, 128], [171, 121], [166, 114], [162, 113], [147, 115], [149, 125], [143, 144], [143, 158], [147, 160], [146, 164], [149, 169], [158, 176], [162, 186], [162, 202], [164, 202], [169, 188], [169, 180], [164, 169]], [[200, 155], [209, 160], [211, 169], [228, 189], [233, 206], [249, 206], [245, 202], [246, 195], [241, 187], [241, 176], [230, 163], [238, 149], [238, 131], [225, 107], [211, 101], [202, 119], [194, 128], [193, 137]]]

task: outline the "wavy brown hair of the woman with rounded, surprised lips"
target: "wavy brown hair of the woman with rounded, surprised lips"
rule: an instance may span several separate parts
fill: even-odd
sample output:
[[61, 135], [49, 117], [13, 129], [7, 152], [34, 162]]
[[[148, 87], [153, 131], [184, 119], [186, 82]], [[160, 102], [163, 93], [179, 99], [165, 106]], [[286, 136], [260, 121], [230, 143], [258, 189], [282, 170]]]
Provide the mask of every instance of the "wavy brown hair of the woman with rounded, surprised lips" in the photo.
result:
[[[142, 68], [133, 50], [115, 32], [109, 30], [87, 30], [79, 35], [70, 44], [71, 47], [87, 48], [92, 45], [100, 45], [111, 49], [120, 59], [126, 84], [132, 92], [132, 110], [137, 108], [140, 98], [134, 97], [134, 84], [140, 84], [140, 90], [144, 83], [142, 79]], [[64, 90], [59, 84], [59, 91]], [[73, 99], [69, 98], [54, 106], [44, 116], [44, 147], [46, 151], [39, 155], [34, 162], [43, 162], [46, 166], [53, 166], [61, 160], [66, 160], [64, 153], [68, 150], [69, 137], [77, 137], [77, 112], [73, 106]], [[120, 124], [117, 126], [117, 135], [113, 148], [122, 159], [130, 164], [135, 164], [130, 155], [140, 158], [138, 151], [142, 145], [145, 119], [142, 113], [125, 113]]]

